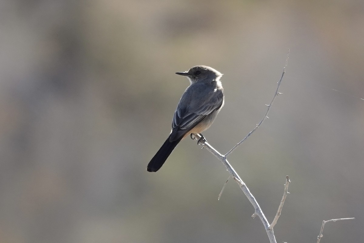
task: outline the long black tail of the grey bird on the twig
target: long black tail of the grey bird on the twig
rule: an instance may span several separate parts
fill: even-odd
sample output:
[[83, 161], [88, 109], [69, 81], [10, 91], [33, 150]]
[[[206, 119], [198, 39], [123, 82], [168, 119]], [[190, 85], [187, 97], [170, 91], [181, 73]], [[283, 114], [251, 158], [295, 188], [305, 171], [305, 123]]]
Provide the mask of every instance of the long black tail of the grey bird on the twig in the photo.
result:
[[173, 149], [177, 146], [177, 144], [182, 140], [182, 137], [177, 141], [169, 141], [169, 137], [164, 142], [162, 147], [158, 150], [155, 156], [150, 160], [147, 171], [156, 172], [158, 171], [164, 162], [167, 160], [168, 156], [172, 153]]

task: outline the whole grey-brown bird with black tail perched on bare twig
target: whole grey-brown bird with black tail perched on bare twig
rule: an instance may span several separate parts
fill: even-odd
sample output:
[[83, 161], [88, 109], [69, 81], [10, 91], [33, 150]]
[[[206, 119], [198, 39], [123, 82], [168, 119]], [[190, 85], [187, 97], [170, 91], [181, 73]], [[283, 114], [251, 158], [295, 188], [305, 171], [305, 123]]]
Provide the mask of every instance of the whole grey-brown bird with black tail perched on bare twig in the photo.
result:
[[158, 171], [178, 143], [187, 136], [193, 138], [198, 134], [204, 140], [201, 133], [211, 126], [224, 105], [224, 90], [220, 81], [223, 74], [219, 71], [199, 65], [176, 74], [187, 77], [190, 86], [178, 102], [167, 140], [147, 166], [149, 172]]

